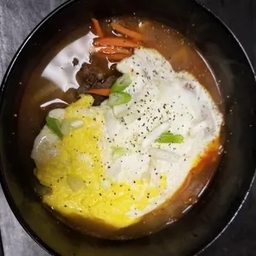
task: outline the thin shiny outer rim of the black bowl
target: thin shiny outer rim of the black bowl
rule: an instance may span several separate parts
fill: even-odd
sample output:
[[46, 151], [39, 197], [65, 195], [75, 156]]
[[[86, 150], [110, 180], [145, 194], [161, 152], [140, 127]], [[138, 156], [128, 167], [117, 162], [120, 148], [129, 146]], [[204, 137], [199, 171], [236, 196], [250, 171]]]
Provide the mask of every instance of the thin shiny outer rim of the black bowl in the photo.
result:
[[[2, 83], [0, 85], [0, 109], [2, 108], [2, 98], [4, 97], [4, 92], [6, 89], [8, 78], [10, 76], [10, 73], [12, 73], [14, 64], [16, 63], [17, 59], [19, 58], [21, 51], [24, 49], [24, 47], [29, 42], [29, 40], [31, 40], [31, 37], [33, 37], [34, 34], [36, 34], [36, 32], [40, 30], [40, 28], [45, 24], [46, 21], [49, 21], [52, 17], [55, 17], [55, 14], [57, 14], [58, 12], [61, 12], [64, 8], [69, 7], [70, 5], [74, 4], [75, 2], [76, 2], [76, 0], [68, 0], [67, 2], [64, 2], [61, 5], [59, 5], [59, 7], [56, 7], [42, 21], [40, 21], [40, 23], [38, 23], [36, 25], [36, 27], [31, 31], [31, 33], [26, 37], [26, 39], [23, 41], [21, 46], [18, 48], [16, 54], [13, 56], [10, 64], [7, 67], [6, 73], [4, 74], [4, 76], [2, 78]], [[247, 63], [249, 64], [249, 68], [251, 70], [251, 73], [254, 75], [254, 80], [256, 82], [256, 74], [254, 71], [253, 64], [251, 63], [249, 56], [247, 55], [246, 51], [244, 50], [244, 46], [240, 43], [239, 39], [235, 36], [234, 32], [231, 31], [230, 27], [227, 26], [225, 24], [225, 22], [220, 17], [218, 17], [216, 15], [216, 13], [212, 12], [210, 10], [210, 8], [206, 7], [205, 4], [203, 4], [202, 2], [199, 2], [199, 0], [194, 0], [194, 2], [198, 5], [198, 7], [201, 7], [202, 9], [204, 9], [205, 12], [208, 12], [209, 15], [215, 17], [216, 21], [219, 22], [220, 26], [223, 26], [225, 28], [225, 30], [227, 31], [227, 33], [229, 33], [230, 36], [232, 36], [234, 38], [236, 43], [239, 45], [240, 50], [243, 51], [244, 57], [247, 59]], [[256, 83], [255, 83], [255, 85], [256, 85]], [[0, 158], [0, 184], [2, 186], [2, 191], [7, 200], [8, 205], [10, 206], [10, 208], [12, 210], [12, 213], [18, 220], [19, 224], [22, 226], [23, 230], [25, 230], [26, 233], [28, 235], [30, 235], [31, 239], [33, 239], [36, 242], [36, 244], [38, 244], [40, 246], [40, 248], [44, 249], [48, 254], [53, 255], [53, 256], [61, 256], [54, 249], [50, 248], [50, 246], [48, 246], [43, 241], [43, 239], [40, 239], [40, 237], [38, 235], [36, 235], [36, 232], [34, 230], [32, 230], [31, 227], [26, 223], [26, 220], [24, 220], [23, 216], [21, 215], [21, 212], [18, 210], [18, 207], [11, 196], [11, 193], [8, 189], [7, 181], [5, 179], [2, 169], [3, 169], [2, 168], [2, 160]], [[233, 210], [230, 210], [230, 211], [232, 211], [232, 213], [230, 214], [229, 220], [227, 221], [225, 226], [220, 228], [220, 230], [218, 231], [218, 234], [215, 235], [214, 238], [208, 238], [206, 240], [206, 242], [204, 242], [203, 245], [201, 246], [201, 249], [198, 249], [196, 251], [194, 256], [199, 255], [199, 254], [203, 253], [204, 251], [206, 251], [206, 249], [208, 249], [211, 246], [211, 244], [213, 244], [216, 241], [216, 239], [218, 239], [220, 237], [220, 235], [222, 235], [225, 232], [225, 230], [227, 230], [227, 228], [230, 226], [232, 221], [235, 220], [235, 217], [238, 215], [240, 209], [242, 208], [242, 206], [244, 206], [244, 201], [246, 201], [246, 199], [249, 195], [249, 192], [254, 185], [255, 178], [256, 178], [256, 168], [254, 170], [254, 174], [250, 178], [249, 186], [246, 188], [246, 191], [243, 192], [244, 193], [243, 197], [241, 197], [241, 199], [239, 199], [239, 201], [236, 201], [235, 206], [233, 206]]]

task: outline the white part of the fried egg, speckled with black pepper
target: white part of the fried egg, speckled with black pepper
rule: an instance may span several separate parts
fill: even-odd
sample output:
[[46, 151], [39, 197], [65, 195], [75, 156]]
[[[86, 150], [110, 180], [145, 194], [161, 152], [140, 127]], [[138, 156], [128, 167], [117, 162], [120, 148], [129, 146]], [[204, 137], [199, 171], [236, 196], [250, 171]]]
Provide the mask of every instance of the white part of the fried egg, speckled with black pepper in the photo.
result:
[[[205, 88], [189, 73], [175, 73], [156, 50], [135, 50], [135, 55], [122, 60], [116, 69], [132, 76], [133, 83], [126, 88], [132, 101], [108, 110], [113, 112], [102, 147], [106, 175], [130, 184], [147, 176], [157, 186], [161, 175], [167, 177], [167, 188], [159, 197], [143, 211], [129, 212], [138, 217], [154, 210], [181, 187], [197, 156], [220, 135], [223, 117]], [[115, 123], [114, 133], [111, 122]], [[166, 130], [183, 135], [183, 143], [155, 143]], [[112, 145], [129, 153], [113, 160]]]

